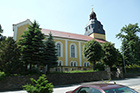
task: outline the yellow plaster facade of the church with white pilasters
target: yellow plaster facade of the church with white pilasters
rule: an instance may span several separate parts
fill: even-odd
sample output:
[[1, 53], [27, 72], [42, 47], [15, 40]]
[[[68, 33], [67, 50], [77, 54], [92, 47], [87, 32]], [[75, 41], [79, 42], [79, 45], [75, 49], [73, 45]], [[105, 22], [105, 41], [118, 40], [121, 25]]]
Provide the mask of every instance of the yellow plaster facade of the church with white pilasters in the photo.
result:
[[[28, 30], [28, 26], [30, 25], [30, 23], [27, 24], [17, 24], [15, 25], [15, 29], [14, 29], [14, 38], [16, 41], [18, 41], [19, 39], [22, 39], [21, 35], [23, 35], [24, 31]], [[102, 37], [103, 39], [105, 39], [105, 36], [100, 35], [100, 34], [92, 34], [93, 37]], [[46, 36], [47, 38], [48, 36]], [[46, 40], [46, 38], [44, 39], [44, 41]], [[62, 38], [62, 37], [53, 37], [55, 43], [61, 43], [62, 44], [62, 56], [58, 57], [58, 61], [63, 62], [62, 66], [58, 66], [55, 69], [61, 69], [60, 71], [70, 71], [70, 70], [85, 70], [85, 69], [92, 69], [91, 64], [90, 66], [85, 66], [84, 64], [87, 61], [87, 59], [84, 57], [83, 55], [83, 50], [84, 50], [84, 45], [86, 43], [86, 41], [84, 40], [77, 40], [77, 39], [68, 39], [68, 38]], [[76, 56], [75, 57], [71, 57], [71, 45], [74, 45], [76, 48]], [[76, 66], [71, 66], [71, 62], [76, 62], [77, 65]], [[88, 62], [89, 63], [89, 62]], [[55, 69], [53, 69], [54, 71], [56, 71]]]

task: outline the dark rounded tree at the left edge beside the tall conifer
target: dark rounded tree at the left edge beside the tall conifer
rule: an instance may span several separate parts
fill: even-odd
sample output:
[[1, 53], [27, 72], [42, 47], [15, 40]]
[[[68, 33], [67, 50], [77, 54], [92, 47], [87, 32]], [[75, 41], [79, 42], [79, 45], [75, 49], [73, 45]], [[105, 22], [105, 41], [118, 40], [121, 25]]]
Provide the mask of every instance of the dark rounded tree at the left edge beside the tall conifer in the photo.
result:
[[12, 37], [0, 42], [0, 69], [6, 73], [16, 73], [19, 70], [20, 51]]

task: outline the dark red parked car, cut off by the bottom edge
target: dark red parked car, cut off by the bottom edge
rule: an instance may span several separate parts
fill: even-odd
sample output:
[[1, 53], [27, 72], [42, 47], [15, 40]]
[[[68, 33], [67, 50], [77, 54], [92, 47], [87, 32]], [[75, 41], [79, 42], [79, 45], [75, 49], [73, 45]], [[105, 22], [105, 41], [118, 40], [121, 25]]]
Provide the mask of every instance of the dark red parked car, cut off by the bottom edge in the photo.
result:
[[66, 93], [138, 93], [135, 90], [119, 84], [98, 83], [82, 85], [73, 91]]

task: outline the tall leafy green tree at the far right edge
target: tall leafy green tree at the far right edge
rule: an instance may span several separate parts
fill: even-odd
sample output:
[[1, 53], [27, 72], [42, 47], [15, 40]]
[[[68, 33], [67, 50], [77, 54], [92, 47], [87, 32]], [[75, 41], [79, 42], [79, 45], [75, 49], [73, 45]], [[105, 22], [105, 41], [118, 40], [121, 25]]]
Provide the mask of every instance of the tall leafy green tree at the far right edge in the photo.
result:
[[140, 38], [138, 36], [140, 28], [138, 24], [125, 25], [121, 32], [116, 35], [122, 40], [121, 50], [127, 64], [140, 64]]

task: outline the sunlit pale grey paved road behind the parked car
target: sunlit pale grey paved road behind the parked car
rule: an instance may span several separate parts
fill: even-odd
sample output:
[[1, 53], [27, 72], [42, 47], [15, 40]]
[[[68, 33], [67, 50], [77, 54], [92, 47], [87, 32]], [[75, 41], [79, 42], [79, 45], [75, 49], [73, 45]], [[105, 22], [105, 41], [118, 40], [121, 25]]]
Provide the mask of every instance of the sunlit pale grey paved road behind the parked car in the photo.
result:
[[[103, 82], [103, 81], [98, 81], [98, 82]], [[110, 83], [113, 83], [113, 82], [116, 82], [117, 84], [127, 85], [137, 90], [140, 93], [140, 77], [110, 81]], [[87, 83], [81, 83], [77, 85], [59, 86], [59, 87], [54, 88], [53, 93], [65, 93], [66, 91], [73, 90], [80, 85], [91, 84], [91, 83], [97, 83], [97, 82], [87, 82]], [[9, 91], [9, 92], [0, 92], [0, 93], [27, 93], [27, 92], [22, 90], [22, 91]]]

